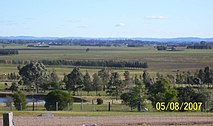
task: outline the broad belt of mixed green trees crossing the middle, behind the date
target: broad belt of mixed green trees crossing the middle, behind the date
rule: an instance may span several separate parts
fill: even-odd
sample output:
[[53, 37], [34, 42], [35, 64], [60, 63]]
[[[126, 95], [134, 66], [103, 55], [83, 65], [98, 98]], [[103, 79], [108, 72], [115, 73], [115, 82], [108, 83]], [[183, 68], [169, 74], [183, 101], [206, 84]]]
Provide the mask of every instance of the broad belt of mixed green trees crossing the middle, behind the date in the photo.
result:
[[[143, 71], [141, 75], [131, 76], [129, 71], [120, 74], [103, 68], [90, 75], [87, 71], [82, 74], [80, 68], [75, 67], [70, 73], [64, 74], [63, 80], [60, 80], [54, 70], [47, 71], [45, 65], [40, 62], [19, 66], [18, 70], [20, 75], [18, 84], [33, 88], [37, 93], [58, 89], [72, 92], [72, 95], [78, 95], [78, 92], [82, 90], [87, 91], [88, 95], [90, 91], [100, 95], [99, 91], [105, 91], [115, 99], [121, 98], [132, 109], [138, 107], [138, 110], [144, 110], [147, 101], [151, 101], [153, 108], [156, 107], [157, 102], [202, 102], [202, 111], [213, 108], [212, 92], [205, 85], [199, 85], [197, 88], [193, 88], [192, 85], [176, 87], [170, 76], [164, 77], [159, 73], [156, 78], [152, 78], [147, 71]], [[211, 70], [206, 67], [202, 77], [208, 78], [209, 71]], [[213, 80], [213, 78], [208, 79]]]

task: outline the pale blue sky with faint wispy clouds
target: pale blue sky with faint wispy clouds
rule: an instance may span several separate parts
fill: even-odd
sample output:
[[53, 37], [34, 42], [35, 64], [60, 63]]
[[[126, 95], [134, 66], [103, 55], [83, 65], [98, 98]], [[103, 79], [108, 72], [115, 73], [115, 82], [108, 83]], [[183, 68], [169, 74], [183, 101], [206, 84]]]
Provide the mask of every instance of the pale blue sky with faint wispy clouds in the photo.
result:
[[213, 0], [0, 0], [0, 36], [213, 37]]

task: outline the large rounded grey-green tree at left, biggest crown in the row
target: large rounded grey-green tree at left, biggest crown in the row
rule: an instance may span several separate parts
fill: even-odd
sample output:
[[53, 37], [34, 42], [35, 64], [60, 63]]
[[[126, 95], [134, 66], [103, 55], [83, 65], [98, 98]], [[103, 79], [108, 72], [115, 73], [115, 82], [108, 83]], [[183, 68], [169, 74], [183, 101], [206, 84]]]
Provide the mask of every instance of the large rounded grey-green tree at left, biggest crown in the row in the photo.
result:
[[25, 85], [34, 86], [36, 92], [39, 92], [39, 85], [45, 83], [49, 79], [47, 68], [40, 62], [31, 62], [22, 68], [18, 67], [21, 81]]

